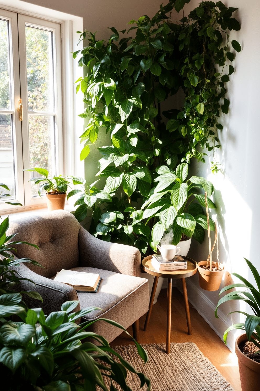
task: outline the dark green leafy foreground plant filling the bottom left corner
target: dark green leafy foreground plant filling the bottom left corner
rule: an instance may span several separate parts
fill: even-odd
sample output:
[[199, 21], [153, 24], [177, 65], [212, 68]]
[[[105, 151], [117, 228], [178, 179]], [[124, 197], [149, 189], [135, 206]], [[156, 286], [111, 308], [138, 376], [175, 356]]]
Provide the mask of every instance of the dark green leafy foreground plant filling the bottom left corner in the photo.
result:
[[[22, 294], [42, 301], [39, 293], [12, 290], [14, 284], [24, 280], [12, 267], [19, 266], [21, 262], [41, 265], [28, 258], [14, 259], [12, 246], [26, 242], [12, 242], [14, 235], [6, 236], [8, 226], [7, 217], [0, 225], [0, 373], [4, 374], [1, 377], [2, 388], [5, 391], [84, 391], [94, 390], [99, 386], [108, 391], [115, 389], [112, 386], [113, 381], [122, 390], [131, 391], [126, 380], [128, 369], [140, 378], [140, 387], [146, 384], [149, 391], [150, 380], [143, 373], [137, 372], [124, 361], [101, 335], [86, 330], [96, 320], [80, 325], [75, 323], [84, 314], [100, 308], [88, 307], [73, 312], [79, 301], [67, 301], [62, 305], [61, 311], [51, 312], [46, 317], [41, 308], [30, 309], [22, 301]], [[37, 248], [34, 244], [29, 245]], [[14, 321], [14, 315], [19, 317], [20, 321]], [[124, 327], [113, 320], [100, 320], [127, 333]], [[98, 345], [82, 341], [89, 337], [95, 339]], [[147, 362], [147, 352], [138, 342], [134, 339], [133, 341], [140, 357]], [[113, 359], [111, 353], [118, 357], [120, 362]], [[108, 379], [108, 386], [104, 381], [105, 377]]]

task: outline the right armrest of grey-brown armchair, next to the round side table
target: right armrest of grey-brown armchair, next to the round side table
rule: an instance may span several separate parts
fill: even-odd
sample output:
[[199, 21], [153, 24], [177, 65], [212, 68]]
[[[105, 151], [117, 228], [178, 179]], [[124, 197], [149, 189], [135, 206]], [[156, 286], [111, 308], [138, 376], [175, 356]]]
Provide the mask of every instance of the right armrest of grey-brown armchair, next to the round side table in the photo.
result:
[[83, 227], [78, 242], [81, 266], [141, 277], [141, 253], [137, 248], [97, 239]]

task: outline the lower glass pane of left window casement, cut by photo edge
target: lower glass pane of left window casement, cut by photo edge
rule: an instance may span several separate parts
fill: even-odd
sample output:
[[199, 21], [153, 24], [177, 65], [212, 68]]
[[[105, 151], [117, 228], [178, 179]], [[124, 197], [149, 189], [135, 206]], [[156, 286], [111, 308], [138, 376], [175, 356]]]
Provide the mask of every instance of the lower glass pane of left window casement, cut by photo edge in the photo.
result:
[[[12, 116], [0, 114], [0, 182], [4, 183], [11, 190], [5, 190], [3, 194], [11, 194], [15, 198], [14, 187], [14, 157], [12, 144]], [[6, 198], [6, 201], [11, 197]]]

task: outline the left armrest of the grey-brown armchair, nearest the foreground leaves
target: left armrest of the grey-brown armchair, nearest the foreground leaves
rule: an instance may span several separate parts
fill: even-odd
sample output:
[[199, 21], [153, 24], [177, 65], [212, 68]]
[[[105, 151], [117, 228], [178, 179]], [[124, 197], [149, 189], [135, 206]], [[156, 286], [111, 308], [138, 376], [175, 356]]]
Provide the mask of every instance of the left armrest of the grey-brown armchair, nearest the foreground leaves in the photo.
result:
[[[16, 259], [18, 259], [15, 256]], [[22, 262], [20, 266], [12, 267], [16, 273], [23, 278], [29, 278], [35, 282], [35, 285], [29, 281], [21, 281], [14, 285], [16, 291], [37, 291], [42, 296], [43, 303], [39, 300], [29, 298], [23, 295], [23, 300], [29, 308], [41, 307], [45, 315], [49, 315], [53, 311], [60, 311], [60, 308], [65, 301], [78, 300], [78, 294], [73, 287], [61, 282], [53, 281], [50, 278], [40, 276], [34, 271], [30, 270]], [[80, 310], [80, 305], [75, 308], [75, 312]]]

